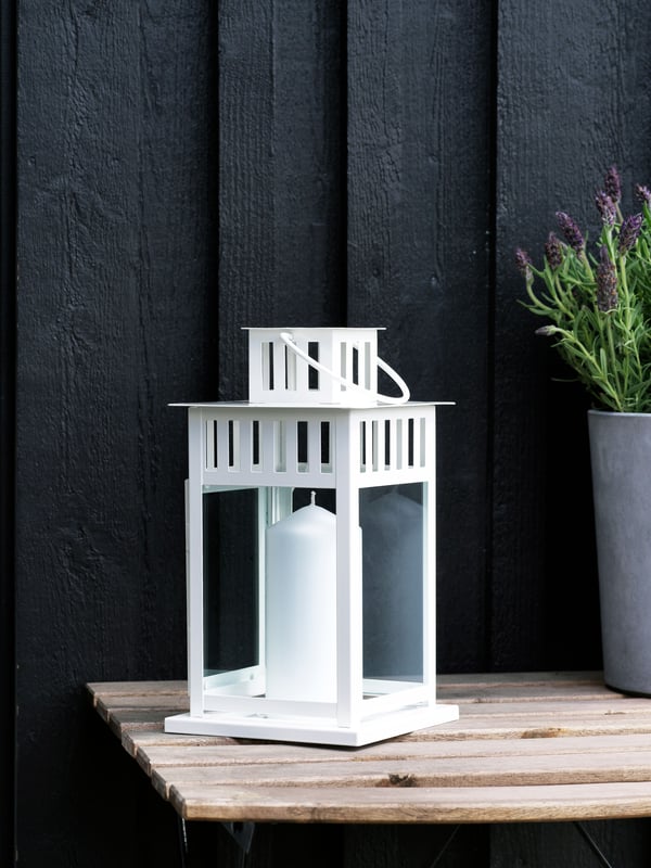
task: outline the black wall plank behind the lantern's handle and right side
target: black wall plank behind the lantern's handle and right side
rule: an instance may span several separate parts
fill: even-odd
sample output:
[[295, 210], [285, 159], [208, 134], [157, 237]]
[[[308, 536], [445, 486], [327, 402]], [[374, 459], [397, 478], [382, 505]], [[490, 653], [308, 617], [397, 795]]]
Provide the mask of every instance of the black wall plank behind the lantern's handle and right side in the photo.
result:
[[443, 671], [487, 664], [492, 31], [475, 0], [348, 2], [348, 320], [387, 327], [414, 398], [457, 401], [437, 444]]

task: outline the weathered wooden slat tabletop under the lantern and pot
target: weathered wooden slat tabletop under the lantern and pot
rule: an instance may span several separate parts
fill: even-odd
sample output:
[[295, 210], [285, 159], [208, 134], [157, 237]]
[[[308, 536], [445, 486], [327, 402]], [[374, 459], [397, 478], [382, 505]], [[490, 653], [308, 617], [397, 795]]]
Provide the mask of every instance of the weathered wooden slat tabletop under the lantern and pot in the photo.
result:
[[600, 673], [439, 676], [460, 719], [366, 748], [167, 735], [184, 681], [88, 686], [188, 820], [513, 822], [651, 816], [651, 700]]

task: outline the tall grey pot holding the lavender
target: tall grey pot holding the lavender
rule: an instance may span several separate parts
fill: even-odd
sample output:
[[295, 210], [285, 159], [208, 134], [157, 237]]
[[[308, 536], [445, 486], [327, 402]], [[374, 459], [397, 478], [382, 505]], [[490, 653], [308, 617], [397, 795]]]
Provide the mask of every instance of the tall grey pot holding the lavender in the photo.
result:
[[651, 695], [651, 413], [588, 412], [604, 680]]

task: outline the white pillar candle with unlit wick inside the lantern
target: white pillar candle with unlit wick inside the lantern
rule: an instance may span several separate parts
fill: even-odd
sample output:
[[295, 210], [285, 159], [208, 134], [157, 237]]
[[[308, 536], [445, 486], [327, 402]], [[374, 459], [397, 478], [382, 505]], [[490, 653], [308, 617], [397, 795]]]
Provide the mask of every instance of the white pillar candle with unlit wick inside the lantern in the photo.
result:
[[269, 699], [336, 702], [336, 518], [315, 503], [266, 532]]

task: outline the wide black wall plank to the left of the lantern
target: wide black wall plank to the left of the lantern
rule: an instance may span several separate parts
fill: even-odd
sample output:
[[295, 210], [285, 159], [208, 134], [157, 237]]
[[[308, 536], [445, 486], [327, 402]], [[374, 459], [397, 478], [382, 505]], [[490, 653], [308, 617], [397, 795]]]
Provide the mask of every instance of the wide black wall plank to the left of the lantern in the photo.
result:
[[[186, 672], [186, 419], [167, 404], [207, 392], [213, 352], [208, 8], [18, 7], [17, 815], [26, 865], [142, 864], [135, 802], [119, 817], [113, 808], [91, 816], [98, 792], [118, 804], [124, 778], [90, 771], [82, 685]], [[148, 834], [167, 840], [156, 822]]]

